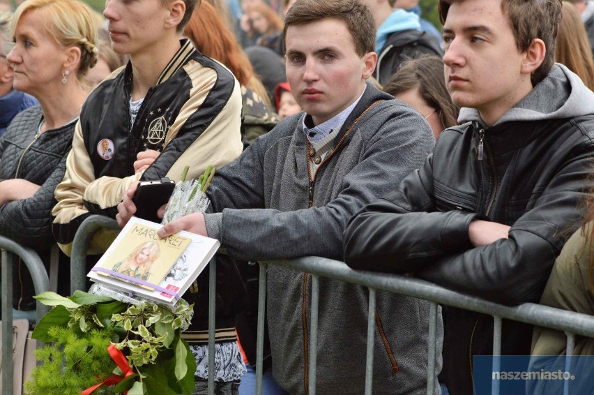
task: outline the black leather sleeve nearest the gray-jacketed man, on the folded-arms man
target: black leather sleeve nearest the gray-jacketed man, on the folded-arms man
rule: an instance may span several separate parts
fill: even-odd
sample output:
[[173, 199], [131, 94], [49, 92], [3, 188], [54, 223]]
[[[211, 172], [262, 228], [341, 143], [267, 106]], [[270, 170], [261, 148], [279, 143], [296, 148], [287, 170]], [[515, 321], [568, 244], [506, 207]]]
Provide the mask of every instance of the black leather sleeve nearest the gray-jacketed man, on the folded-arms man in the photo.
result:
[[432, 156], [388, 198], [367, 204], [344, 232], [344, 260], [353, 269], [406, 273], [471, 248], [476, 214], [436, 211]]

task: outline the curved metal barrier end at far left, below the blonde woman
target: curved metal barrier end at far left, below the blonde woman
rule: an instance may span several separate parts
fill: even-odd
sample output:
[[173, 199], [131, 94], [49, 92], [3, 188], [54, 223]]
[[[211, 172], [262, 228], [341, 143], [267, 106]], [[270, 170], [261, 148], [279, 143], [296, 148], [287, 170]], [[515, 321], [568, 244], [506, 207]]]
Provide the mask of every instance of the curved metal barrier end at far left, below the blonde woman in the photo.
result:
[[[2, 392], [13, 394], [13, 260], [20, 258], [33, 278], [35, 293], [50, 290], [50, 278], [39, 255], [31, 248], [26, 248], [0, 236], [0, 250], [2, 251]], [[41, 304], [37, 306], [37, 321], [49, 311], [49, 307]]]

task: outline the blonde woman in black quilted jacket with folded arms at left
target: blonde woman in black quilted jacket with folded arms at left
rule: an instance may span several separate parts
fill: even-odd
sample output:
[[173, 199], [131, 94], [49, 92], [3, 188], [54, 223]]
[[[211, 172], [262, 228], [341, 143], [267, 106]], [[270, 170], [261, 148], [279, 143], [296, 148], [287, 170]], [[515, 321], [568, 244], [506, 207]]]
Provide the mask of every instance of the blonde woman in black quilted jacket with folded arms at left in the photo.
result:
[[[24, 1], [12, 23], [14, 46], [6, 60], [15, 72], [13, 85], [39, 105], [20, 112], [0, 140], [0, 234], [49, 262], [54, 189], [87, 96], [84, 75], [97, 62], [97, 33], [89, 6], [77, 0]], [[15, 289], [33, 292], [25, 272], [15, 270]], [[67, 292], [64, 274], [59, 284]], [[19, 299], [20, 308], [34, 308], [33, 299]]]

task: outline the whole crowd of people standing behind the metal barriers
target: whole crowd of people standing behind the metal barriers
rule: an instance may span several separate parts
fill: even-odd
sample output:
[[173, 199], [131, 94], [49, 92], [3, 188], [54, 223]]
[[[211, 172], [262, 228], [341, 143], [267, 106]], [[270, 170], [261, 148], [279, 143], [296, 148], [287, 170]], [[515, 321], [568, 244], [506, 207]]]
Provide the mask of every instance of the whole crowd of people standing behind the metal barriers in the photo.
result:
[[[0, 0], [0, 235], [48, 270], [57, 244], [68, 295], [85, 218], [123, 226], [138, 181], [217, 167], [208, 211], [160, 230], [227, 251], [216, 393], [254, 394], [262, 260], [594, 314], [594, 0], [439, 0], [439, 28], [418, 0], [17, 3]], [[89, 267], [115, 235], [94, 234]], [[13, 307], [34, 309], [24, 264], [13, 273]], [[317, 392], [362, 394], [369, 295], [319, 283]], [[311, 276], [269, 267], [267, 287], [264, 394], [307, 394]], [[208, 269], [184, 298], [206, 394]], [[428, 302], [378, 292], [375, 315], [374, 392], [427, 393]], [[492, 318], [439, 318], [434, 393], [471, 395]], [[566, 352], [563, 334], [517, 322], [502, 347]]]

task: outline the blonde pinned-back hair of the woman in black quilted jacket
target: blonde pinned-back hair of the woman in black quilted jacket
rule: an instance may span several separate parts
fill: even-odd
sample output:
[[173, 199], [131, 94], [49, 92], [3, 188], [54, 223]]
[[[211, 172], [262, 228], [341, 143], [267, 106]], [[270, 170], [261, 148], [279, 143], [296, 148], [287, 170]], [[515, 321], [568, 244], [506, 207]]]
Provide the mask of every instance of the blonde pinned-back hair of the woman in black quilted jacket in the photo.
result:
[[91, 8], [78, 0], [26, 0], [17, 10], [12, 32], [23, 15], [38, 11], [42, 29], [63, 48], [79, 47], [80, 61], [76, 70], [81, 80], [89, 68], [97, 63], [97, 26]]

